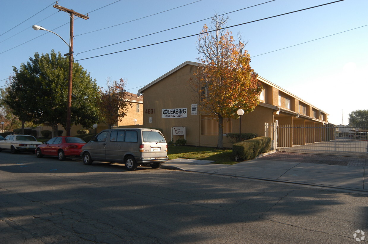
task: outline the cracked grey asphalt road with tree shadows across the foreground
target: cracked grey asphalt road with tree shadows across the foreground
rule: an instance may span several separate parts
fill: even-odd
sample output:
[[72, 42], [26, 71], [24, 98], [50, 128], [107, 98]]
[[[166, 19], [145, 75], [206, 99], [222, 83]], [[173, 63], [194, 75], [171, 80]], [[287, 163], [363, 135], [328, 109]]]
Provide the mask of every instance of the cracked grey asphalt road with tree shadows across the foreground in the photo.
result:
[[0, 196], [1, 244], [346, 244], [368, 233], [367, 195], [28, 153], [0, 153]]

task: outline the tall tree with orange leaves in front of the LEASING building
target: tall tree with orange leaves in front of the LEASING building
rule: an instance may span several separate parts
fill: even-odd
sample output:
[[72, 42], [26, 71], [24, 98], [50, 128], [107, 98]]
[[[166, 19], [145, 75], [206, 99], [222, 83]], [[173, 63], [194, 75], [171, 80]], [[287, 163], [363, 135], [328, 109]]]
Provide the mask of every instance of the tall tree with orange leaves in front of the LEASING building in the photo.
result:
[[238, 35], [223, 29], [227, 18], [212, 18], [212, 29], [206, 25], [199, 35], [197, 58], [199, 67], [189, 81], [199, 96], [194, 98], [202, 114], [213, 115], [219, 122], [217, 148], [223, 148], [223, 119], [239, 116], [236, 111], [249, 113], [258, 105], [262, 85], [250, 66], [250, 55]]

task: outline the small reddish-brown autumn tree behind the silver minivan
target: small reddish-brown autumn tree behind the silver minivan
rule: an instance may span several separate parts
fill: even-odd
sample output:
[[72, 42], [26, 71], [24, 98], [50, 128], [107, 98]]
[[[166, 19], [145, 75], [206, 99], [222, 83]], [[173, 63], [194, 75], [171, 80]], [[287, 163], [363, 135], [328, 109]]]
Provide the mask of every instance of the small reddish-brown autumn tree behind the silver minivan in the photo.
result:
[[117, 121], [122, 121], [124, 116], [127, 115], [129, 106], [133, 106], [132, 103], [126, 99], [126, 84], [127, 83], [123, 79], [111, 82], [111, 78], [107, 77], [107, 88], [102, 88], [100, 90], [99, 107], [103, 119], [109, 125], [109, 129], [111, 129], [112, 125]]

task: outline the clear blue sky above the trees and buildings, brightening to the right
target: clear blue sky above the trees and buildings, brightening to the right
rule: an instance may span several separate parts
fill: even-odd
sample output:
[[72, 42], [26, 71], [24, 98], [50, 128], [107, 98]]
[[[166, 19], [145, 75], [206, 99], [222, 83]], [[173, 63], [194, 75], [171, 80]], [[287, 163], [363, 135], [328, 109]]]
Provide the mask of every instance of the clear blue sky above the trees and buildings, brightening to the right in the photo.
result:
[[[190, 36], [210, 23], [209, 19], [199, 20], [267, 1], [59, 0], [59, 5], [81, 14], [89, 13], [88, 20], [74, 21], [74, 55], [78, 60]], [[275, 0], [228, 14], [228, 26], [329, 2], [332, 0]], [[70, 17], [66, 12], [57, 12], [52, 7], [54, 3], [50, 0], [1, 1], [0, 86], [5, 84], [3, 79], [12, 74], [12, 67], [19, 68], [34, 52], [47, 53], [54, 49], [65, 54], [69, 51], [53, 33], [31, 28], [33, 24], [43, 26], [69, 43]], [[255, 72], [329, 113], [331, 123], [347, 124], [348, 113], [368, 109], [367, 10], [367, 0], [344, 0], [230, 30], [234, 36], [241, 33], [248, 40], [247, 50], [252, 57], [256, 56], [251, 62]], [[89, 51], [195, 21], [199, 22]], [[346, 30], [350, 31], [344, 32]], [[339, 32], [344, 33], [319, 39]], [[319, 40], [286, 48], [314, 39]], [[194, 36], [78, 62], [98, 85], [104, 87], [107, 77], [123, 78], [128, 80], [127, 90], [137, 93], [139, 88], [181, 63], [196, 61], [196, 40]], [[275, 51], [280, 48], [286, 49]], [[264, 54], [270, 51], [275, 52]]]

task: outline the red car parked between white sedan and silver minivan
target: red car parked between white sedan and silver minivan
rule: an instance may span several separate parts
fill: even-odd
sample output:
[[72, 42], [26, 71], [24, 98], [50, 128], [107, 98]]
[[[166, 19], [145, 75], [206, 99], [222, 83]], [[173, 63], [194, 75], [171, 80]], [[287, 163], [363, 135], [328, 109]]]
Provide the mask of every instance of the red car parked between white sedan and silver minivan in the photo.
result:
[[36, 156], [39, 158], [44, 155], [57, 156], [60, 161], [63, 161], [66, 157], [79, 157], [82, 152], [82, 146], [85, 144], [86, 142], [79, 137], [58, 136], [39, 145], [36, 149]]

